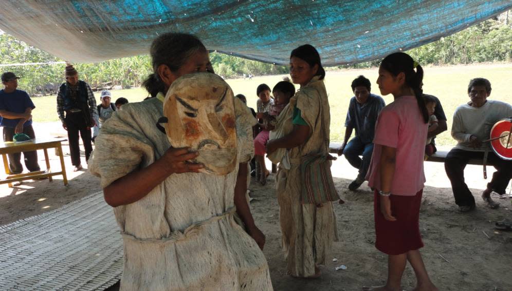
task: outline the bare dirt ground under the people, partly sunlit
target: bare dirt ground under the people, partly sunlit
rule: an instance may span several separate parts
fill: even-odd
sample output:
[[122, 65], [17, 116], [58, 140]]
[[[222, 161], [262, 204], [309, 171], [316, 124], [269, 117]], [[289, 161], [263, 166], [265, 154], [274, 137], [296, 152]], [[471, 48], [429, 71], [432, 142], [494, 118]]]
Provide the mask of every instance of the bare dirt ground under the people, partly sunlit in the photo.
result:
[[[55, 127], [48, 124], [36, 128], [47, 134]], [[59, 131], [59, 130], [58, 130]], [[61, 131], [62, 132], [62, 131]], [[69, 185], [61, 177], [53, 182], [24, 181], [8, 188], [0, 185], [0, 225], [56, 209], [100, 190], [99, 180], [85, 170], [72, 172], [67, 143], [63, 146]], [[444, 149], [446, 150], [446, 149]], [[60, 164], [50, 150], [51, 167]], [[40, 165], [44, 165], [42, 152]], [[83, 158], [83, 161], [85, 158]], [[488, 168], [491, 177], [492, 168]], [[481, 166], [468, 166], [466, 180], [477, 201], [477, 210], [461, 214], [456, 210], [453, 196], [441, 163], [425, 163], [427, 183], [420, 211], [420, 229], [425, 247], [422, 255], [432, 278], [440, 290], [512, 290], [512, 232], [496, 231], [496, 221], [512, 219], [510, 198], [499, 199], [501, 207], [486, 208], [480, 198], [486, 180]], [[382, 284], [387, 274], [386, 256], [374, 247], [373, 195], [367, 184], [349, 191], [348, 184], [356, 176], [344, 158], [333, 164], [333, 175], [345, 204], [336, 204], [340, 241], [334, 243], [330, 261], [321, 268], [320, 279], [301, 280], [286, 275], [281, 251], [279, 206], [275, 190], [275, 174], [267, 185], [251, 182], [253, 216], [266, 235], [264, 254], [270, 266], [275, 290], [360, 290], [363, 285]], [[488, 178], [489, 180], [490, 178]], [[510, 191], [510, 186], [507, 192]], [[337, 259], [333, 262], [332, 259]], [[335, 270], [345, 265], [345, 270]], [[407, 266], [403, 280], [405, 289], [415, 285], [414, 273]]]

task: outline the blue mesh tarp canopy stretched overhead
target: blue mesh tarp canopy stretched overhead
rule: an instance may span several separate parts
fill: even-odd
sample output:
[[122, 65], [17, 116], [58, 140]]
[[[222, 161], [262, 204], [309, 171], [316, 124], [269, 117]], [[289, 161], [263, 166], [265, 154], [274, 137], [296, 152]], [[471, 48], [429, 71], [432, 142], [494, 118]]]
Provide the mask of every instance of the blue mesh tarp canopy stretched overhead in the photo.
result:
[[147, 54], [153, 38], [175, 31], [275, 64], [309, 43], [332, 66], [417, 47], [510, 8], [510, 0], [4, 0], [0, 29], [71, 62]]

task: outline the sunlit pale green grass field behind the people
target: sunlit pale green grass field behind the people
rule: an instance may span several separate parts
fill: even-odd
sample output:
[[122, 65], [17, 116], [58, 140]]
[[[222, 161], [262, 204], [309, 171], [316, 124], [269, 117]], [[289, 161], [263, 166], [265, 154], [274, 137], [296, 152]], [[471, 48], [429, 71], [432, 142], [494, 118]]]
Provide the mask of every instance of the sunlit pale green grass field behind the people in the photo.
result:
[[[364, 70], [327, 71], [325, 86], [331, 104], [331, 140], [341, 141], [345, 132], [345, 116], [349, 100], [353, 96], [350, 84], [358, 75], [364, 75], [372, 82], [372, 92], [380, 94], [377, 84], [377, 68]], [[266, 83], [272, 88], [282, 80], [284, 75], [259, 76], [252, 80], [230, 79], [226, 80], [235, 94], [244, 94], [249, 106], [256, 106], [256, 87]], [[449, 67], [426, 67], [424, 79], [424, 92], [437, 96], [443, 104], [448, 118], [448, 130], [436, 139], [438, 145], [454, 145], [450, 128], [453, 111], [463, 103], [468, 102], [467, 85], [473, 77], [485, 77], [492, 85], [489, 99], [512, 103], [512, 64], [490, 64]], [[298, 86], [296, 86], [298, 88]], [[20, 88], [23, 90], [23, 88]], [[99, 102], [99, 93], [95, 94]], [[141, 89], [114, 90], [112, 101], [124, 97], [130, 102], [142, 101], [148, 93]], [[393, 101], [393, 96], [383, 96], [386, 104]], [[33, 111], [34, 122], [58, 121], [56, 96], [43, 96], [32, 99], [37, 107]]]

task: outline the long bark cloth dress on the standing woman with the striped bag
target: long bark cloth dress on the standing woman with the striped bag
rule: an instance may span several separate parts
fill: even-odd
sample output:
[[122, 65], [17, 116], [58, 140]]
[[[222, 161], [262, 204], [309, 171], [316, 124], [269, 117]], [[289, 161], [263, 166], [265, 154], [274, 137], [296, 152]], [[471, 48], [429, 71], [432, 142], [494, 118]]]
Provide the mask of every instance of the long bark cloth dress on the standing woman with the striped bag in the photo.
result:
[[326, 153], [328, 148], [331, 114], [325, 85], [318, 76], [300, 88], [279, 115], [278, 127], [283, 127], [285, 132], [293, 129], [291, 117], [295, 107], [301, 110], [310, 133], [304, 144], [289, 150], [291, 168], [285, 169], [280, 164], [277, 174], [279, 221], [288, 271], [293, 276], [309, 277], [315, 275], [315, 264], [325, 264], [332, 242], [338, 240], [333, 203], [317, 207], [302, 204], [300, 198], [301, 158], [311, 153]]

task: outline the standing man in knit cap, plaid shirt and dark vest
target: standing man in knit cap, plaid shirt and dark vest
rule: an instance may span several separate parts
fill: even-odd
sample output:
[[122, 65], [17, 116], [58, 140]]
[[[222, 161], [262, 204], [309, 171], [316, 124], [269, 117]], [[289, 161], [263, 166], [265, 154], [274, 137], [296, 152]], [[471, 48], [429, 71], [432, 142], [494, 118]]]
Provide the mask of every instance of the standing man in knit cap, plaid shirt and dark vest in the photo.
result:
[[79, 133], [85, 148], [85, 161], [88, 161], [93, 151], [90, 129], [96, 124], [94, 115], [97, 111], [93, 90], [87, 83], [78, 80], [78, 72], [71, 64], [66, 66], [66, 83], [61, 85], [57, 94], [57, 113], [62, 127], [67, 130], [74, 171], [79, 171], [82, 169]]

